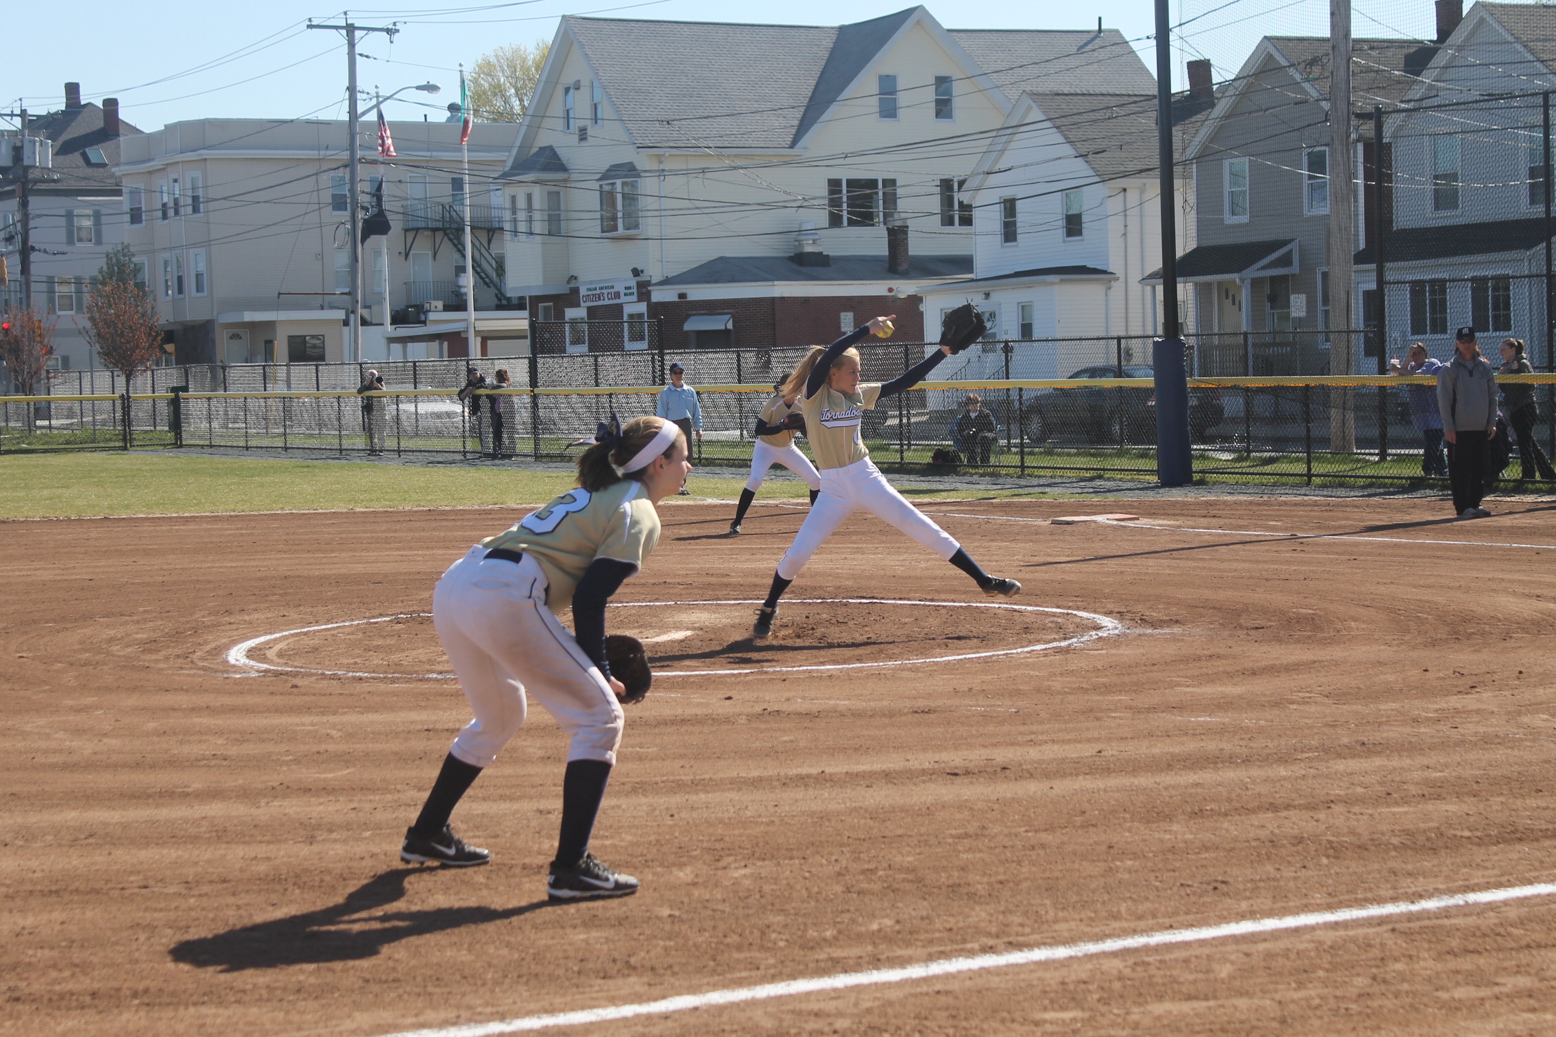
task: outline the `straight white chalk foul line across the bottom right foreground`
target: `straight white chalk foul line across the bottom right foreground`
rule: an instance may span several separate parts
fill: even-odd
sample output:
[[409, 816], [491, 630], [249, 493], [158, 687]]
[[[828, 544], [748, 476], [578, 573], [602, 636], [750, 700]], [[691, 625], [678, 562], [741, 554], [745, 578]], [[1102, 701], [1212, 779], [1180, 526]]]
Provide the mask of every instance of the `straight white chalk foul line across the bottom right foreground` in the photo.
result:
[[822, 990], [845, 990], [848, 987], [868, 987], [887, 983], [907, 983], [912, 979], [930, 979], [934, 976], [949, 976], [960, 972], [982, 972], [985, 969], [1005, 969], [1008, 965], [1032, 965], [1047, 961], [1067, 961], [1072, 958], [1091, 958], [1095, 955], [1113, 955], [1141, 947], [1169, 947], [1172, 944], [1198, 944], [1231, 936], [1248, 936], [1256, 933], [1277, 933], [1281, 930], [1313, 928], [1318, 925], [1337, 925], [1341, 922], [1360, 922], [1366, 919], [1382, 919], [1400, 914], [1421, 914], [1425, 911], [1442, 911], [1447, 908], [1464, 908], [1480, 903], [1500, 903], [1505, 900], [1526, 900], [1530, 897], [1548, 897], [1556, 894], [1556, 883], [1540, 883], [1534, 886], [1512, 886], [1508, 889], [1486, 889], [1481, 892], [1464, 892], [1449, 897], [1432, 897], [1430, 900], [1404, 900], [1396, 903], [1379, 903], [1363, 908], [1341, 908], [1338, 911], [1313, 911], [1310, 914], [1287, 914], [1276, 919], [1251, 919], [1246, 922], [1228, 922], [1225, 925], [1206, 925], [1187, 930], [1161, 930], [1156, 933], [1141, 933], [1139, 936], [1119, 936], [1114, 939], [1091, 941], [1086, 944], [1061, 944], [1057, 947], [1033, 947], [1030, 950], [1013, 950], [999, 955], [977, 955], [974, 958], [948, 958], [943, 961], [927, 961], [921, 965], [906, 965], [902, 969], [873, 969], [870, 972], [845, 972], [814, 979], [790, 979], [787, 983], [767, 983], [758, 987], [734, 987], [730, 990], [710, 990], [708, 993], [683, 993], [680, 997], [663, 998], [660, 1001], [640, 1001], [638, 1004], [616, 1004], [612, 1007], [582, 1009], [577, 1012], [555, 1012], [552, 1015], [526, 1015], [523, 1018], [506, 1018], [496, 1023], [471, 1023], [465, 1026], [447, 1026], [440, 1029], [414, 1029], [389, 1037], [492, 1037], [495, 1034], [520, 1034], [535, 1029], [554, 1029], [557, 1026], [582, 1026], [585, 1023], [608, 1023], [621, 1018], [636, 1018], [641, 1015], [669, 1015], [717, 1004], [739, 1004], [742, 1001], [764, 1001], [769, 998], [794, 997], [800, 993], [817, 993]]

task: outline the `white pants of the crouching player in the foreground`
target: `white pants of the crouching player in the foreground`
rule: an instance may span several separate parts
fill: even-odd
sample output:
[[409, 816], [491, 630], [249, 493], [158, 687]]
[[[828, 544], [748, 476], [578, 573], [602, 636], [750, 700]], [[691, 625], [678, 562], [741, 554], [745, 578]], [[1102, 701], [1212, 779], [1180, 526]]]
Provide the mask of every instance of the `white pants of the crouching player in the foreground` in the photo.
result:
[[471, 547], [437, 581], [433, 625], [475, 711], [450, 748], [454, 759], [490, 766], [524, 726], [527, 692], [571, 737], [568, 760], [616, 763], [621, 703], [546, 608], [540, 563], [487, 560]]

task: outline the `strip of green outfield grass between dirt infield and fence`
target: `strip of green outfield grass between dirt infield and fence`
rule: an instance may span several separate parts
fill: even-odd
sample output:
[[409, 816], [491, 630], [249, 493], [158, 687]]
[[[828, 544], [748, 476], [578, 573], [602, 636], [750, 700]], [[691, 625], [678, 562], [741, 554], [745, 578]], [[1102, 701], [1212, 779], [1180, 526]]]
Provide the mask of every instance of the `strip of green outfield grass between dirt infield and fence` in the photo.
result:
[[[734, 499], [745, 471], [692, 473], [696, 496]], [[566, 471], [475, 465], [188, 457], [163, 452], [0, 456], [0, 519], [342, 508], [428, 508], [537, 504], [573, 485]], [[909, 496], [1047, 498], [1024, 491], [940, 491], [904, 487]], [[797, 498], [804, 484], [770, 479], [762, 498]]]

